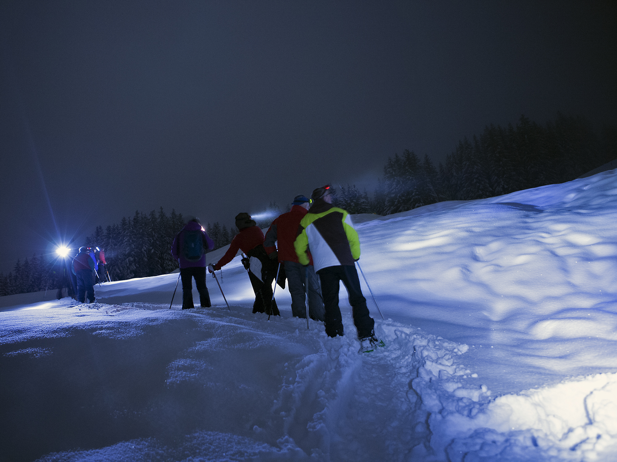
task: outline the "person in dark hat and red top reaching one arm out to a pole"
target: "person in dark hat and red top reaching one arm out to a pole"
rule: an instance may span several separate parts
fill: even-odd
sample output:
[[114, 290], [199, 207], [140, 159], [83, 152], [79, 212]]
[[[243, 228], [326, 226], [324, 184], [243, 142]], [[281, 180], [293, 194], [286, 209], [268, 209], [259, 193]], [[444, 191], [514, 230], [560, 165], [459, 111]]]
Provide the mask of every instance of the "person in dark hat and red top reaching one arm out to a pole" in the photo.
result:
[[210, 265], [210, 272], [220, 270], [232, 261], [238, 249], [241, 249], [246, 253], [242, 264], [249, 270], [249, 279], [255, 292], [253, 312], [280, 316], [276, 300], [272, 298], [272, 281], [276, 277], [278, 263], [268, 258], [263, 248], [263, 232], [247, 213], [236, 215], [236, 227], [239, 232], [231, 240], [230, 248], [217, 264]]

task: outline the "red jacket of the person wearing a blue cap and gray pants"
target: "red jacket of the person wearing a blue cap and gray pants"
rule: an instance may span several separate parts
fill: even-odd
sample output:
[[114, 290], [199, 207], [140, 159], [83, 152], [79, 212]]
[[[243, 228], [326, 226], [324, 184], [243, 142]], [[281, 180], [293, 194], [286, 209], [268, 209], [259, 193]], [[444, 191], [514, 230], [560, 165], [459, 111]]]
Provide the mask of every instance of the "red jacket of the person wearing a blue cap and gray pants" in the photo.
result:
[[[296, 249], [294, 249], [294, 241], [296, 240], [300, 221], [308, 212], [304, 207], [294, 205], [291, 211], [278, 216], [272, 222], [263, 241], [263, 248], [266, 249], [268, 255], [276, 250], [274, 243], [278, 241], [278, 261], [299, 262]], [[309, 256], [310, 264], [313, 264], [313, 257], [310, 252], [307, 252], [307, 255]]]

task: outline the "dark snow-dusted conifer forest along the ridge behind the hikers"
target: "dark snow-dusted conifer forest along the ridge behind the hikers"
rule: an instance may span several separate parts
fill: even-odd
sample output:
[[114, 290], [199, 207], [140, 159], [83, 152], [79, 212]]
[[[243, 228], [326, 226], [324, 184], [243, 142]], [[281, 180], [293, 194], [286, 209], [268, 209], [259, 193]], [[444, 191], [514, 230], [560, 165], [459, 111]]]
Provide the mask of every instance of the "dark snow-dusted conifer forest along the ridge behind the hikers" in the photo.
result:
[[[419, 158], [409, 150], [396, 154], [388, 158], [372, 195], [347, 184], [338, 188], [334, 203], [351, 214], [388, 215], [440, 201], [495, 197], [576, 179], [615, 160], [616, 147], [615, 128], [603, 129], [598, 137], [581, 116], [560, 115], [544, 125], [521, 116], [514, 126], [491, 124], [479, 136], [463, 138], [437, 166], [428, 155]], [[269, 209], [272, 219], [280, 213], [276, 203]], [[112, 280], [168, 274], [178, 267], [170, 246], [184, 224], [173, 210], [136, 211], [120, 224], [97, 226], [81, 245], [105, 249]], [[215, 249], [228, 245], [237, 232], [218, 222], [207, 224], [206, 230]], [[0, 296], [56, 290], [66, 283], [63, 270], [55, 254], [17, 261], [9, 274], [0, 272]]]

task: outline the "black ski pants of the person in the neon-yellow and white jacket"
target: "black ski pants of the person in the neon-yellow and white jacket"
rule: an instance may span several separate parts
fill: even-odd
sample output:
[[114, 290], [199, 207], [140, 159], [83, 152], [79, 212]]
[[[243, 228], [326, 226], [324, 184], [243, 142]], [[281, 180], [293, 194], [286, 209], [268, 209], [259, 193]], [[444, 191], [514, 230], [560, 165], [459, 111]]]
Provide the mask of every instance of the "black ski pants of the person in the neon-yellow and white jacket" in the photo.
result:
[[366, 307], [366, 299], [360, 289], [360, 279], [355, 265], [328, 266], [320, 269], [317, 274], [321, 280], [321, 295], [326, 310], [326, 334], [331, 337], [343, 335], [343, 322], [339, 308], [339, 290], [342, 281], [349, 294], [349, 304], [352, 306], [354, 325], [358, 330], [358, 338], [370, 337], [373, 333], [375, 320], [370, 317]]

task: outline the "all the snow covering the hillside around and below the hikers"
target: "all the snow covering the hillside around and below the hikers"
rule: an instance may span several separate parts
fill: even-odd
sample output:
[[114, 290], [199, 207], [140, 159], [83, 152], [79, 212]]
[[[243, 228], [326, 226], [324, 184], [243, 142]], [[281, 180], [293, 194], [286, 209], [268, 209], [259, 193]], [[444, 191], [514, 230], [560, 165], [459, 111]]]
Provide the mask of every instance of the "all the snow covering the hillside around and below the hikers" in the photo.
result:
[[168, 309], [177, 274], [0, 298], [0, 459], [617, 460], [617, 170], [354, 221], [370, 354], [343, 287], [342, 338], [251, 314], [239, 257], [231, 311], [210, 276]]

